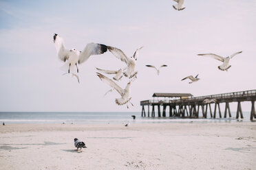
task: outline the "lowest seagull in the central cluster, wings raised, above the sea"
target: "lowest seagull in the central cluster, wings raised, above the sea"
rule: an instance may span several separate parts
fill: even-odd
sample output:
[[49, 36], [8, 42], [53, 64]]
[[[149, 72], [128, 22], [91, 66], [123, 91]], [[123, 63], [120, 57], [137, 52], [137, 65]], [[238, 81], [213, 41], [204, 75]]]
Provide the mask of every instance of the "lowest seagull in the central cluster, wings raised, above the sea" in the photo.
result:
[[[106, 84], [108, 84], [109, 86], [111, 86], [112, 89], [116, 90], [121, 97], [119, 99], [116, 99], [116, 104], [118, 105], [124, 105], [127, 104], [128, 102], [131, 104], [131, 97], [130, 96], [130, 88], [131, 88], [131, 82], [127, 83], [127, 86], [125, 87], [125, 89], [120, 88], [120, 86], [118, 86], [118, 84], [116, 84], [113, 80], [109, 79], [108, 77], [106, 77], [105, 75], [102, 75], [100, 73], [97, 73], [98, 77], [100, 77], [100, 80], [105, 82]], [[134, 106], [133, 104], [131, 104], [132, 106]], [[127, 108], [128, 105], [127, 105]]]

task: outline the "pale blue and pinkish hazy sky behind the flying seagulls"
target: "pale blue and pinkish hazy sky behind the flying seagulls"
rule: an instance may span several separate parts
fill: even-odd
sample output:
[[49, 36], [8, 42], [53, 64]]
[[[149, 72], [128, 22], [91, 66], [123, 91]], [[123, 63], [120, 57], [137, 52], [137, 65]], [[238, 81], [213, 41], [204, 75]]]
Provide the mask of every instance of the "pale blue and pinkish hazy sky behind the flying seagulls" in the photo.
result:
[[[140, 112], [153, 93], [214, 95], [256, 89], [256, 1], [185, 0], [176, 11], [171, 0], [2, 1], [0, 0], [0, 112]], [[89, 42], [139, 53], [134, 106], [118, 106], [116, 91], [96, 76], [96, 67], [118, 70], [125, 63], [109, 51], [79, 65], [75, 77], [63, 75], [53, 35], [67, 49], [82, 51]], [[198, 53], [230, 56], [228, 71]], [[168, 67], [156, 71], [146, 64]], [[200, 81], [181, 81], [188, 75]], [[111, 77], [107, 75], [108, 77]], [[118, 85], [125, 88], [127, 78]], [[222, 106], [223, 107], [223, 106]], [[231, 104], [235, 111], [236, 103]], [[250, 103], [242, 103], [243, 111]]]

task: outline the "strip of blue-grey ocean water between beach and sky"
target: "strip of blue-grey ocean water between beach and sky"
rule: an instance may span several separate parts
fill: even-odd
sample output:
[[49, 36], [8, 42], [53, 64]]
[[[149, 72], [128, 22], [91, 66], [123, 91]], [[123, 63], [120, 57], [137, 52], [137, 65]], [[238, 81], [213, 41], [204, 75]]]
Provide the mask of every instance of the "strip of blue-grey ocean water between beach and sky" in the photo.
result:
[[[231, 118], [216, 119], [181, 119], [173, 117], [141, 117], [141, 112], [0, 112], [0, 123], [217, 123], [250, 121], [250, 112], [243, 112], [244, 119], [235, 119], [236, 112]], [[134, 120], [131, 115], [135, 115]], [[202, 114], [200, 114], [202, 115]], [[169, 116], [169, 114], [167, 114]], [[223, 117], [222, 113], [222, 117]], [[208, 114], [209, 117], [209, 114]]]

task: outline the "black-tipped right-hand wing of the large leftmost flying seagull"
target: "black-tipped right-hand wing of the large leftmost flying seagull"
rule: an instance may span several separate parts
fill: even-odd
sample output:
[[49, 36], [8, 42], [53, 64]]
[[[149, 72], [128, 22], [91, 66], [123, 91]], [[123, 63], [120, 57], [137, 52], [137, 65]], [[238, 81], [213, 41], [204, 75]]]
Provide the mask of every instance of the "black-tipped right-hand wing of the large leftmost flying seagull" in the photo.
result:
[[81, 64], [88, 60], [89, 56], [105, 53], [106, 51], [106, 45], [101, 45], [94, 42], [89, 43], [86, 45], [85, 49], [83, 49], [83, 51], [79, 54], [78, 63]]

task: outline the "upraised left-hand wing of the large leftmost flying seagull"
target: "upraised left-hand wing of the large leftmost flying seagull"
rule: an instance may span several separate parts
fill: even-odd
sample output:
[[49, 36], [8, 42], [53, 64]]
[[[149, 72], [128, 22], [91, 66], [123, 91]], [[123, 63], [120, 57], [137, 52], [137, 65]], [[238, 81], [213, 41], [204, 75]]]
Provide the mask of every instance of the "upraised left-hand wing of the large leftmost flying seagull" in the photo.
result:
[[65, 62], [70, 56], [70, 51], [65, 48], [64, 40], [58, 34], [54, 34], [54, 45], [56, 47], [57, 56], [60, 60]]

